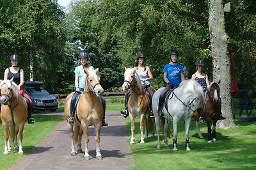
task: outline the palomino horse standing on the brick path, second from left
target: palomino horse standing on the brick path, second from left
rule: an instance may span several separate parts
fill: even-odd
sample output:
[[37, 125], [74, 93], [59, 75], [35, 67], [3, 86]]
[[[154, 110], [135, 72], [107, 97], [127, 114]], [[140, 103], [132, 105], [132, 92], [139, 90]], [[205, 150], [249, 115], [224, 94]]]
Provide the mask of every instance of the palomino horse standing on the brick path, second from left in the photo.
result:
[[[97, 159], [102, 159], [100, 153], [100, 129], [102, 126], [103, 106], [99, 95], [102, 95], [104, 90], [100, 85], [100, 78], [97, 76], [97, 71], [99, 71], [99, 69], [84, 69], [84, 73], [86, 74], [85, 89], [77, 103], [76, 114], [74, 117], [74, 130], [73, 125], [68, 124], [69, 136], [71, 139], [71, 155], [76, 155], [81, 152], [83, 130], [85, 141], [84, 158], [86, 160], [90, 159], [88, 150], [88, 127], [91, 125], [94, 125], [95, 127], [96, 157]], [[67, 120], [70, 117], [70, 101], [73, 94], [74, 92], [69, 94], [65, 101], [64, 114]]]

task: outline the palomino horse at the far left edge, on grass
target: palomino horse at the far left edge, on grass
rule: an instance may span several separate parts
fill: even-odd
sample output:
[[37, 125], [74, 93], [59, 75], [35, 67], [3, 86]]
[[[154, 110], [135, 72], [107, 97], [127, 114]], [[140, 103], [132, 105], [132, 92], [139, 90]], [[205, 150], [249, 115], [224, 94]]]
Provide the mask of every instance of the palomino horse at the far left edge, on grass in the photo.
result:
[[[28, 118], [26, 101], [20, 95], [18, 86], [11, 80], [0, 80], [1, 120], [4, 131], [4, 155], [11, 151], [9, 138], [12, 138], [15, 150], [23, 154], [22, 139], [25, 122]], [[19, 135], [19, 147], [17, 144]]]

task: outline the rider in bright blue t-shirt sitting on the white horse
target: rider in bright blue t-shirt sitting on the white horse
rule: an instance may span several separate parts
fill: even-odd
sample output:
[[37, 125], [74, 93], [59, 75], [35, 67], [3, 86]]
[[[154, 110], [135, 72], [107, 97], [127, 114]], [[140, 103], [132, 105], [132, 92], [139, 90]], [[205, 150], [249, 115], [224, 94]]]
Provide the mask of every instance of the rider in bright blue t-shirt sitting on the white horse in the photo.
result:
[[166, 87], [159, 96], [158, 104], [158, 115], [163, 116], [163, 103], [165, 94], [174, 87], [177, 87], [181, 81], [185, 80], [184, 69], [177, 63], [179, 58], [179, 52], [177, 50], [172, 50], [170, 53], [170, 63], [166, 64], [163, 69], [164, 81], [166, 82]]

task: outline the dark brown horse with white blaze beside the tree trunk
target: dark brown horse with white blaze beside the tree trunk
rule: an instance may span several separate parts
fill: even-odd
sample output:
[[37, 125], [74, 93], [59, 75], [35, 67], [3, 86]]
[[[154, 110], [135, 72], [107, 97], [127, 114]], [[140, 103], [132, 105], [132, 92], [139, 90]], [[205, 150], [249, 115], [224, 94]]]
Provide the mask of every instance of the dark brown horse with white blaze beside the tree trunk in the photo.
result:
[[[202, 113], [202, 117], [207, 122], [207, 129], [208, 129], [208, 143], [212, 141], [216, 141], [216, 123], [220, 120], [221, 115], [221, 97], [220, 97], [220, 81], [212, 82], [206, 92], [204, 106], [198, 112]], [[196, 130], [198, 132], [198, 138], [203, 139], [202, 133], [200, 131], [198, 116], [195, 113], [195, 125]], [[211, 129], [211, 122], [212, 122], [212, 129]]]

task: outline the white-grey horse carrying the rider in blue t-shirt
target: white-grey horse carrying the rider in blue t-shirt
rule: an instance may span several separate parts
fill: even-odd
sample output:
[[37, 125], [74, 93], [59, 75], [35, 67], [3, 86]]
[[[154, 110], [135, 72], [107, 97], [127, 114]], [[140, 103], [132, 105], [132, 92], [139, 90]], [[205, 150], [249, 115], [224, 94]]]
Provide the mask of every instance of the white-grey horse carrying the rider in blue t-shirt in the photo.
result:
[[[161, 148], [159, 138], [159, 120], [160, 116], [157, 114], [158, 101], [163, 87], [158, 89], [152, 99], [152, 108], [155, 115], [156, 131], [157, 131], [157, 148]], [[184, 117], [185, 121], [185, 138], [186, 138], [186, 150], [189, 151], [189, 125], [193, 113], [198, 108], [202, 108], [204, 104], [204, 91], [199, 83], [195, 80], [184, 80], [180, 83], [179, 87], [173, 89], [166, 103], [168, 108], [163, 107], [163, 113], [165, 118], [164, 124], [164, 143], [168, 147], [167, 132], [169, 120], [173, 120], [173, 150], [177, 151], [177, 125], [181, 117]], [[165, 105], [165, 104], [164, 104]]]

